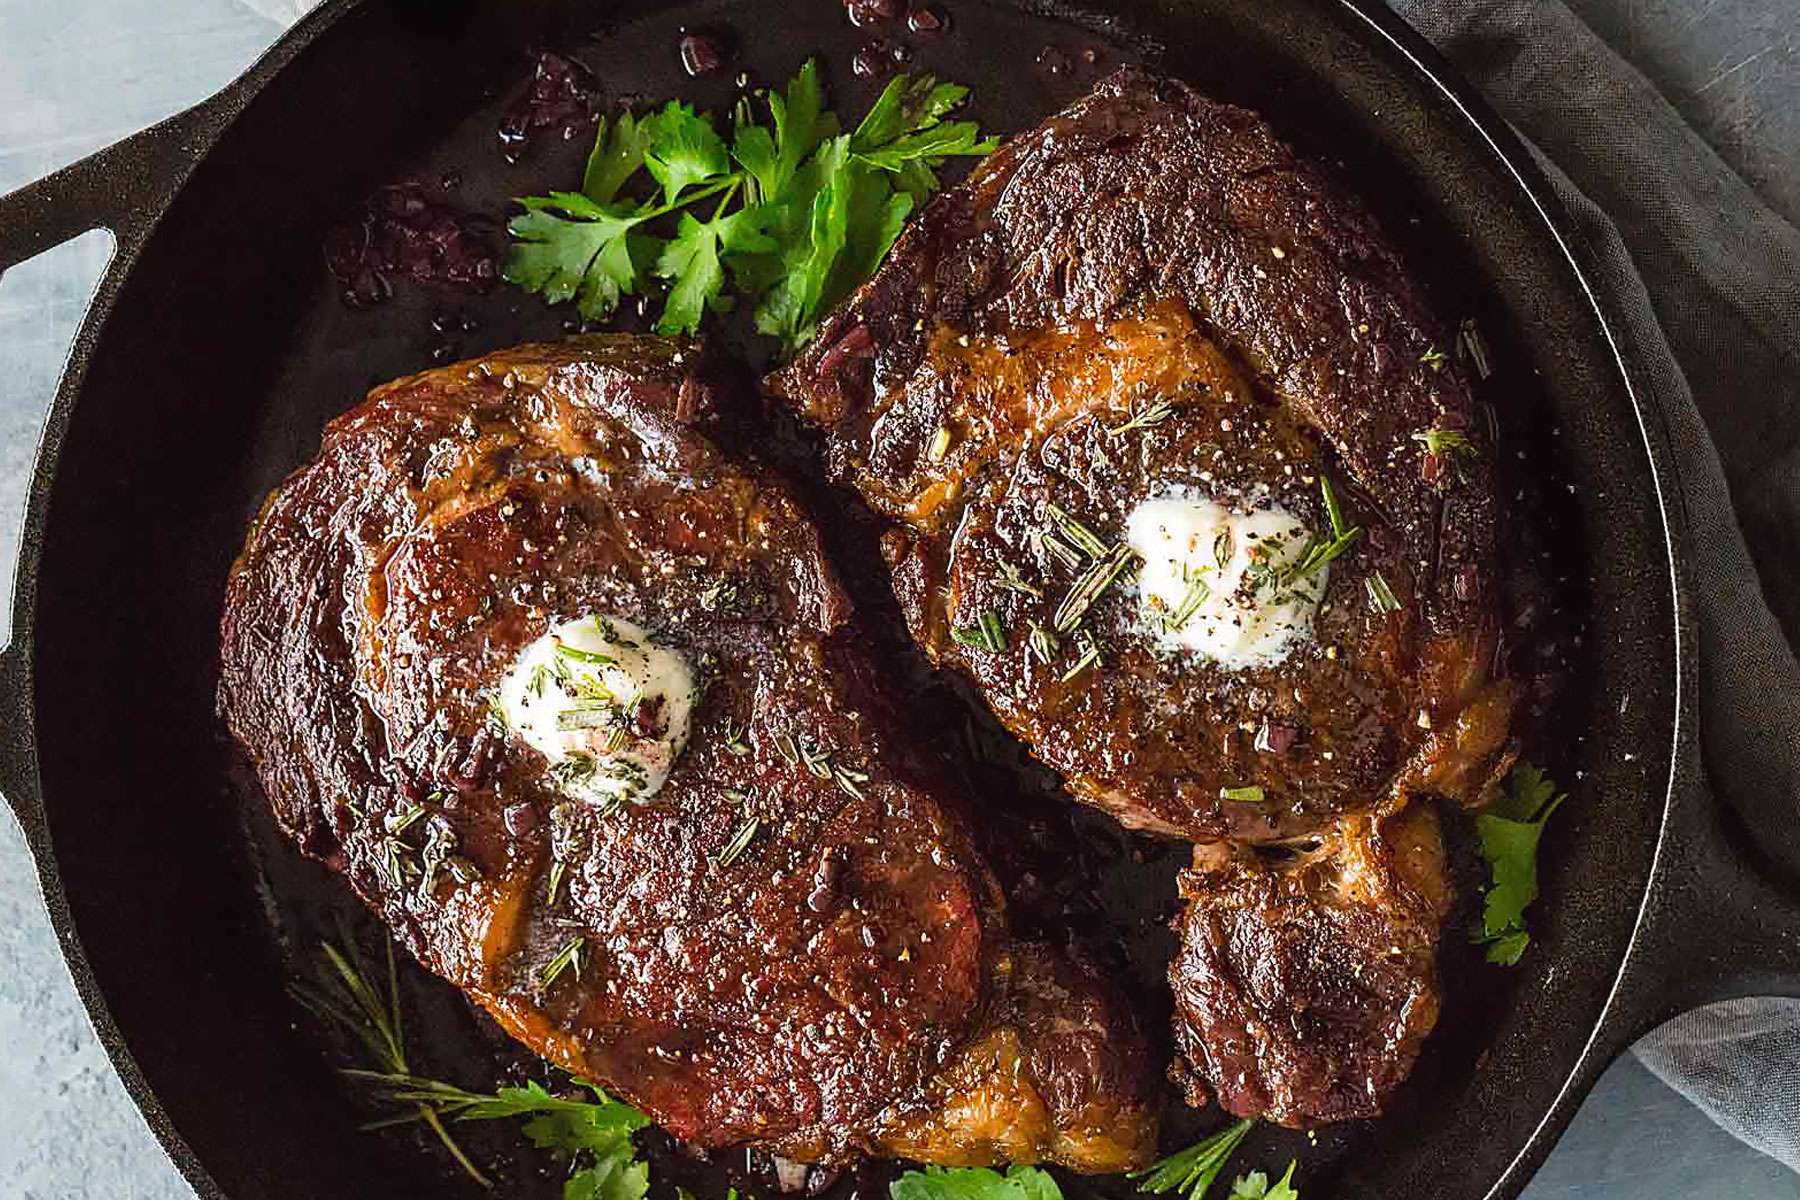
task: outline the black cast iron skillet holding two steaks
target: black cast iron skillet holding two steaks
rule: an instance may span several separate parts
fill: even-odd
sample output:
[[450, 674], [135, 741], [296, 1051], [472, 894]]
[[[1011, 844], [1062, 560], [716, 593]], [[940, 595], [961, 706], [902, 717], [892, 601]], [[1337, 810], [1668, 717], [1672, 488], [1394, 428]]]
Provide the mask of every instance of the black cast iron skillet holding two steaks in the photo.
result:
[[[333, 0], [220, 95], [0, 200], [0, 270], [86, 228], [117, 237], [32, 482], [0, 788], [101, 1040], [203, 1196], [409, 1195], [427, 1178], [353, 1132], [293, 1033], [266, 880], [311, 867], [268, 862], [245, 828], [212, 712], [220, 594], [256, 504], [322, 423], [427, 363], [436, 300], [346, 309], [324, 230], [373, 187], [446, 167], [466, 175], [459, 203], [491, 212], [562, 185], [578, 146], [506, 169], [493, 121], [524, 49], [580, 45], [596, 14], [608, 31], [581, 54], [614, 95], [727, 99], [729, 79], [682, 79], [684, 22], [733, 31], [763, 79], [819, 52], [846, 108], [873, 95], [846, 68], [866, 34], [835, 0]], [[988, 128], [1026, 128], [1141, 58], [1339, 158], [1481, 315], [1521, 396], [1503, 419], [1541, 430], [1577, 480], [1559, 533], [1586, 563], [1588, 685], [1537, 941], [1514, 972], [1451, 979], [1451, 1011], [1480, 1022], [1435, 1040], [1395, 1117], [1327, 1139], [1348, 1150], [1307, 1182], [1310, 1200], [1512, 1196], [1656, 1020], [1800, 993], [1800, 909], [1741, 865], [1703, 786], [1683, 515], [1615, 299], [1523, 146], [1379, 0], [961, 0], [952, 20], [947, 38], [900, 40], [918, 67], [976, 81]], [[506, 290], [470, 308], [466, 353], [554, 336], [562, 317]]]

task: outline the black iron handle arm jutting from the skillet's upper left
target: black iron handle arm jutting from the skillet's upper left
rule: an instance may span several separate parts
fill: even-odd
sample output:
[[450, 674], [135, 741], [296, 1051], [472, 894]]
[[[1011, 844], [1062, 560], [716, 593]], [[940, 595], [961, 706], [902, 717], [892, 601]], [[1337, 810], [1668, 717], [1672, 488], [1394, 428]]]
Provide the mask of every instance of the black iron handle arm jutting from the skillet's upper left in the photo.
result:
[[0, 196], [0, 275], [90, 228], [112, 230], [115, 264], [135, 257], [214, 124], [202, 103]]

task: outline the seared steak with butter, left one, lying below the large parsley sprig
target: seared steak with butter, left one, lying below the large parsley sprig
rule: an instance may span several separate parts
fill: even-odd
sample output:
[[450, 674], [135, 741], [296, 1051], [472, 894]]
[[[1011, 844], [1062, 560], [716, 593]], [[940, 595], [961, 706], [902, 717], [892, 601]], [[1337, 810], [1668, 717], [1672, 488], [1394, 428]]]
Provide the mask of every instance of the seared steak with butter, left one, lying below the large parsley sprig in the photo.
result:
[[684, 1141], [1141, 1162], [1129, 1015], [1012, 941], [961, 819], [896, 770], [817, 531], [716, 446], [727, 401], [693, 344], [581, 338], [337, 419], [221, 630], [281, 826]]

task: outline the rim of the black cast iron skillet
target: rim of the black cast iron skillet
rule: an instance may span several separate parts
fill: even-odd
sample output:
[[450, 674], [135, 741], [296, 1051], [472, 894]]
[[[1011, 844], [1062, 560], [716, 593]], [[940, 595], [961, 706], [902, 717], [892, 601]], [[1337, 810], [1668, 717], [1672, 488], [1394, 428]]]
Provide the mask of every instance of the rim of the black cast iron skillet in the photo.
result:
[[[149, 1081], [137, 1065], [126, 1045], [122, 1031], [117, 1027], [110, 1006], [101, 993], [97, 979], [86, 963], [67, 896], [61, 887], [61, 874], [56, 851], [50, 844], [41, 779], [36, 768], [34, 748], [34, 613], [36, 583], [43, 560], [43, 533], [49, 522], [50, 488], [61, 461], [63, 439], [68, 428], [74, 405], [79, 401], [86, 383], [86, 372], [95, 349], [104, 336], [104, 326], [112, 308], [133, 272], [139, 252], [153, 236], [162, 216], [175, 203], [187, 184], [191, 173], [214, 149], [220, 137], [232, 122], [256, 101], [263, 88], [275, 79], [301, 52], [311, 47], [326, 31], [337, 25], [347, 13], [362, 7], [365, 0], [326, 0], [308, 16], [283, 34], [268, 50], [257, 58], [238, 79], [214, 95], [200, 101], [149, 130], [124, 139], [122, 142], [72, 164], [59, 171], [59, 176], [94, 173], [101, 162], [113, 166], [135, 164], [140, 157], [151, 158], [149, 176], [142, 194], [115, 194], [117, 205], [108, 212], [101, 201], [94, 207], [94, 227], [108, 227], [115, 236], [115, 254], [104, 275], [95, 286], [88, 311], [70, 345], [56, 396], [49, 407], [40, 435], [34, 466], [31, 473], [25, 520], [20, 538], [18, 565], [13, 588], [13, 633], [11, 644], [0, 657], [0, 702], [5, 705], [5, 729], [0, 730], [0, 784], [14, 808], [27, 844], [36, 862], [40, 892], [50, 914], [58, 943], [65, 963], [81, 997], [83, 1007], [106, 1049], [106, 1054], [119, 1072], [126, 1092], [131, 1096], [146, 1124], [157, 1135], [164, 1151], [176, 1169], [207, 1200], [227, 1200], [227, 1193], [216, 1184], [205, 1164], [187, 1144], [180, 1130], [164, 1110], [160, 1099], [151, 1090]], [[1181, 0], [1175, 0], [1179, 5]], [[1031, 5], [1026, 4], [1026, 9]], [[1532, 158], [1523, 140], [1505, 124], [1505, 121], [1481, 99], [1472, 85], [1463, 81], [1456, 68], [1438, 54], [1424, 38], [1391, 13], [1381, 0], [1336, 0], [1339, 14], [1348, 14], [1361, 22], [1357, 32], [1375, 41], [1375, 49], [1395, 70], [1411, 74], [1415, 81], [1429, 85], [1454, 110], [1465, 128], [1451, 130], [1462, 140], [1485, 144], [1512, 178], [1535, 214], [1534, 227], [1550, 236], [1555, 255], [1561, 257], [1573, 273], [1579, 295], [1591, 309], [1598, 329], [1609, 347], [1611, 362], [1602, 360], [1602, 371], [1613, 374], [1625, 389], [1631, 408], [1638, 421], [1642, 450], [1647, 457], [1651, 488], [1656, 500], [1656, 515], [1661, 522], [1661, 543], [1669, 560], [1670, 617], [1672, 617], [1672, 664], [1674, 687], [1670, 691], [1674, 705], [1674, 727], [1670, 730], [1669, 779], [1661, 797], [1661, 817], [1658, 820], [1656, 849], [1642, 885], [1636, 916], [1631, 923], [1631, 936], [1625, 941], [1622, 957], [1613, 973], [1611, 990], [1589, 1029], [1588, 1040], [1571, 1065], [1566, 1069], [1561, 1088], [1543, 1112], [1539, 1123], [1516, 1153], [1514, 1160], [1490, 1184], [1487, 1200], [1501, 1200], [1517, 1195], [1528, 1182], [1530, 1173], [1548, 1155], [1555, 1139], [1568, 1126], [1579, 1103], [1589, 1092], [1593, 1081], [1622, 1051], [1629, 1040], [1640, 1033], [1625, 1027], [1634, 1018], [1642, 1018], [1643, 1004], [1627, 1000], [1627, 984], [1643, 986], [1645, 959], [1651, 957], [1652, 937], [1647, 937], [1652, 901], [1660, 883], [1670, 869], [1670, 837], [1678, 806], [1690, 795], [1688, 786], [1699, 775], [1696, 725], [1696, 617], [1690, 601], [1688, 565], [1681, 543], [1685, 522], [1679, 513], [1679, 495], [1676, 489], [1676, 471], [1667, 423], [1645, 396], [1640, 385], [1638, 367], [1633, 363], [1627, 326], [1616, 311], [1613, 297], [1600, 282], [1591, 246], [1582, 237], [1573, 216], [1555, 196], [1548, 176]], [[1330, 20], [1330, 18], [1327, 18]], [[1354, 23], [1354, 22], [1346, 22]], [[1384, 45], [1382, 45], [1384, 43]], [[1399, 61], [1393, 59], [1399, 58]], [[155, 158], [162, 162], [155, 162]], [[119, 178], [122, 173], [108, 167], [103, 175]], [[56, 176], [50, 176], [54, 180]], [[27, 189], [29, 191], [29, 189]], [[117, 189], [115, 189], [117, 191]], [[76, 228], [74, 232], [81, 232]], [[43, 248], [43, 246], [40, 246]], [[1654, 972], [1651, 972], [1654, 979]]]

